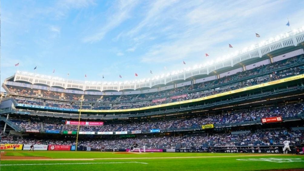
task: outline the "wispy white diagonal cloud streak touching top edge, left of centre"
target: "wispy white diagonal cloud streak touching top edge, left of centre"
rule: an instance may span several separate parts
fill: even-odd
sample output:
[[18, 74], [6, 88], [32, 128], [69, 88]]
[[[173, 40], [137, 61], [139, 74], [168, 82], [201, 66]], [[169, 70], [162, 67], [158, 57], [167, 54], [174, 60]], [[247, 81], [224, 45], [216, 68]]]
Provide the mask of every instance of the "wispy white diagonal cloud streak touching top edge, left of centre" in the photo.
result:
[[137, 0], [119, 1], [118, 6], [116, 7], [116, 12], [107, 18], [105, 24], [103, 24], [97, 32], [91, 36], [86, 36], [83, 39], [83, 42], [93, 43], [103, 39], [107, 32], [116, 28], [130, 17], [130, 12], [136, 6], [136, 4]]

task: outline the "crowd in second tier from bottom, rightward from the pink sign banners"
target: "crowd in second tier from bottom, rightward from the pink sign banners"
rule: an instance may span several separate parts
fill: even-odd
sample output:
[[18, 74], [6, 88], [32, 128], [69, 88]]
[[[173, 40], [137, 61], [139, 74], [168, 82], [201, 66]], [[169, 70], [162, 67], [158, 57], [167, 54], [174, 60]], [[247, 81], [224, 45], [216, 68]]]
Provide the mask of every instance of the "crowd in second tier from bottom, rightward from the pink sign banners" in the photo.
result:
[[[125, 124], [106, 125], [107, 131], [135, 131], [150, 129], [183, 129], [197, 128], [206, 124], [234, 124], [248, 121], [261, 121], [261, 118], [270, 118], [282, 116], [282, 118], [293, 118], [303, 113], [304, 104], [285, 104], [281, 106], [270, 106], [262, 108], [253, 108], [240, 111], [229, 111], [215, 114], [206, 114], [196, 117], [184, 117], [176, 119], [162, 119], [157, 121], [136, 121]], [[81, 126], [81, 131], [103, 132], [105, 126]], [[65, 130], [77, 130], [77, 125], [67, 125]]]

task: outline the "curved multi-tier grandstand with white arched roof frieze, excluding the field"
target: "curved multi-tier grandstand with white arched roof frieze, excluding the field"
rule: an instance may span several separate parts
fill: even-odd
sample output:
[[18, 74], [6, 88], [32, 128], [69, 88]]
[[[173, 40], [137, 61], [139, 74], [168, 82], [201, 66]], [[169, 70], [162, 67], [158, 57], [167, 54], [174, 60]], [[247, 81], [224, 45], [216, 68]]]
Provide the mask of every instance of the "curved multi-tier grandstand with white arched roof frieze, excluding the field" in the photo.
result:
[[138, 142], [265, 153], [282, 153], [286, 139], [303, 144], [304, 28], [223, 59], [126, 82], [17, 71], [2, 84], [1, 142], [73, 146], [79, 135], [92, 151]]

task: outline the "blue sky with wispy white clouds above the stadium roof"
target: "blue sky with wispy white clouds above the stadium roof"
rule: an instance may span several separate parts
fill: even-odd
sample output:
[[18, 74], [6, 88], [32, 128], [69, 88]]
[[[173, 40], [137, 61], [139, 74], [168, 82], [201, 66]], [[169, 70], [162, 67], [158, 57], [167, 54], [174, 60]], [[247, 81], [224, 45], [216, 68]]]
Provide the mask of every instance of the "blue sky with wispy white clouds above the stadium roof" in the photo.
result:
[[192, 67], [290, 31], [287, 17], [292, 28], [304, 26], [303, 6], [302, 0], [2, 0], [1, 84], [17, 69], [125, 81]]

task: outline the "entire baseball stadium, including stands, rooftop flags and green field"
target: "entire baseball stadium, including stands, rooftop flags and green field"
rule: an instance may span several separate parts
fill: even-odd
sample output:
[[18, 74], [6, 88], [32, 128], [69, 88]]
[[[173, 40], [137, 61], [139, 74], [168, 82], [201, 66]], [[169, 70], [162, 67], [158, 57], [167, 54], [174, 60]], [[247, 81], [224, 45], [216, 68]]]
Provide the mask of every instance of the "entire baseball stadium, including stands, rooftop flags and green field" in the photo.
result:
[[140, 80], [36, 68], [1, 77], [1, 171], [304, 170], [304, 26]]

